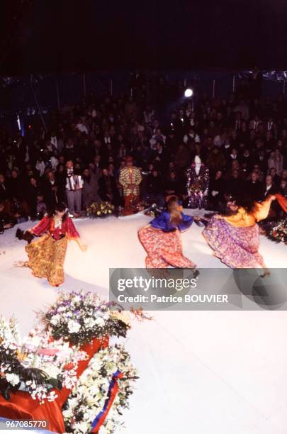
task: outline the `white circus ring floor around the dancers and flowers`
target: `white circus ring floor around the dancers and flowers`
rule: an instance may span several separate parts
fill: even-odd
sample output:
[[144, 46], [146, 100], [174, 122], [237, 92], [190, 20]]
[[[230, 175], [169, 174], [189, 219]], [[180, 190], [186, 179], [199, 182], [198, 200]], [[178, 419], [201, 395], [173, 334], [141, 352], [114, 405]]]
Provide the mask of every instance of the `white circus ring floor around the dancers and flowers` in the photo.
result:
[[[198, 211], [185, 211], [198, 213]], [[85, 253], [69, 243], [62, 289], [108, 296], [108, 268], [145, 266], [137, 229], [150, 221], [77, 220]], [[31, 227], [31, 222], [21, 228]], [[182, 234], [184, 253], [198, 267], [225, 267], [193, 225]], [[13, 313], [25, 335], [35, 311], [55, 301], [57, 289], [14, 262], [26, 260], [16, 228], [0, 235], [0, 314]], [[269, 267], [286, 267], [287, 247], [261, 237]], [[286, 434], [287, 313], [284, 311], [157, 311], [138, 323], [126, 347], [139, 370], [125, 434]], [[1, 415], [0, 415], [1, 416]]]

